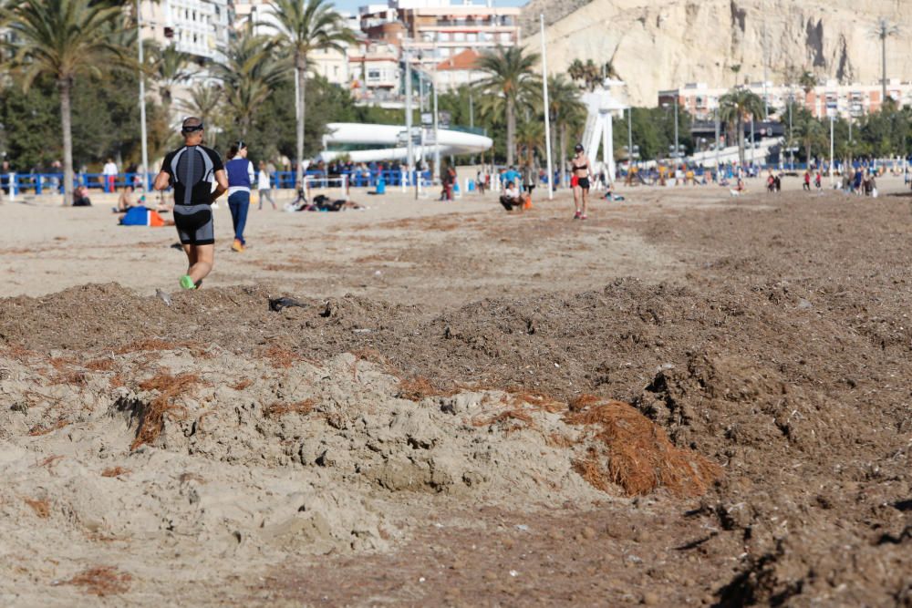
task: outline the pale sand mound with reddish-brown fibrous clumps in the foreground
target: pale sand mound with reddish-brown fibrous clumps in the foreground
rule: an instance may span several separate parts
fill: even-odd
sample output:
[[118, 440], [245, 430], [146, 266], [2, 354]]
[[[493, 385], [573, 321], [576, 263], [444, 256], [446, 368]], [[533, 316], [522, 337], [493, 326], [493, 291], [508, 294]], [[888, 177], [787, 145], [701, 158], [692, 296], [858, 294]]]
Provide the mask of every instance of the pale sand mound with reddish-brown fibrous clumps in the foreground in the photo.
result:
[[88, 593], [141, 586], [165, 554], [189, 568], [387, 550], [440, 500], [553, 509], [696, 494], [719, 474], [617, 402], [439, 391], [368, 352], [118, 350], [0, 357], [0, 533], [24, 559], [59, 546], [41, 575]]

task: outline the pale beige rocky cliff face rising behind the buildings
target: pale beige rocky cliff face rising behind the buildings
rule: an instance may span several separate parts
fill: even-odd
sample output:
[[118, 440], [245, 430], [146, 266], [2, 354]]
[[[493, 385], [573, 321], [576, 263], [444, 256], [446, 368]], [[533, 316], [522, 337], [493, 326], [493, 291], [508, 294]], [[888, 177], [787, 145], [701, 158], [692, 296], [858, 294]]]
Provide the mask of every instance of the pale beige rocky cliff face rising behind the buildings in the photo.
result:
[[[585, 3], [585, 4], [581, 4]], [[688, 82], [731, 87], [768, 79], [794, 82], [807, 69], [824, 79], [876, 83], [876, 20], [899, 26], [887, 39], [887, 77], [912, 79], [912, 11], [906, 0], [532, 0], [523, 33], [540, 49], [544, 13], [551, 73], [575, 58], [612, 61], [630, 101], [655, 105], [660, 89]], [[734, 67], [740, 66], [735, 72]]]

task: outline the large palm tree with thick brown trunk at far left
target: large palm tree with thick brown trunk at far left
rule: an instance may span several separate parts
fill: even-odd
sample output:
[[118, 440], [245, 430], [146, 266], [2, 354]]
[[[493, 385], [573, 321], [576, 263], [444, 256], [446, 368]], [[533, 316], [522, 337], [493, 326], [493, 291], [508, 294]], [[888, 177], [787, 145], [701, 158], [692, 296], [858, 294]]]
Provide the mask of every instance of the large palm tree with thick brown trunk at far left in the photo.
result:
[[60, 93], [63, 129], [64, 205], [73, 200], [73, 132], [70, 110], [73, 83], [80, 74], [100, 77], [123, 49], [108, 36], [123, 15], [119, 5], [92, 0], [14, 0], [0, 11], [14, 39], [9, 64], [27, 89], [40, 75], [53, 77]]

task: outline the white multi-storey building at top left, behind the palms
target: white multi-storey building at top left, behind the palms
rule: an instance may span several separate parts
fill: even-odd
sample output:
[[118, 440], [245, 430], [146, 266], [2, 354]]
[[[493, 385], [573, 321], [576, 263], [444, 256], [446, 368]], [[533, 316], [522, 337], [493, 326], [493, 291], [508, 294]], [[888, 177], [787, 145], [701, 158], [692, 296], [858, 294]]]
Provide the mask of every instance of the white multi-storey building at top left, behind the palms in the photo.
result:
[[201, 59], [223, 60], [231, 25], [229, 0], [144, 0], [140, 6], [143, 39], [173, 44]]

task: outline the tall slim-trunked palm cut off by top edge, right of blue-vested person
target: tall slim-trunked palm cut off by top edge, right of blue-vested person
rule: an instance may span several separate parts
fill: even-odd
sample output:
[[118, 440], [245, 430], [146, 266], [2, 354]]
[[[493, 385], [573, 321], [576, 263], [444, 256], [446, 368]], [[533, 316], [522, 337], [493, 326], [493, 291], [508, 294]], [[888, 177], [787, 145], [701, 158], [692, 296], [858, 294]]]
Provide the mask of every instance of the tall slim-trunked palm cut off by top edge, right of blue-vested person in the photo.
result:
[[337, 50], [355, 41], [328, 0], [274, 0], [276, 41], [292, 57], [297, 78], [297, 183], [304, 181], [304, 119], [307, 60], [316, 50]]

